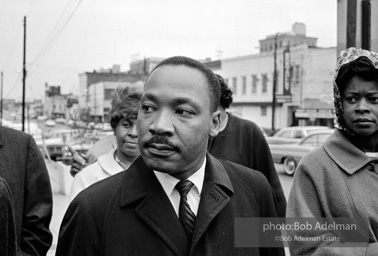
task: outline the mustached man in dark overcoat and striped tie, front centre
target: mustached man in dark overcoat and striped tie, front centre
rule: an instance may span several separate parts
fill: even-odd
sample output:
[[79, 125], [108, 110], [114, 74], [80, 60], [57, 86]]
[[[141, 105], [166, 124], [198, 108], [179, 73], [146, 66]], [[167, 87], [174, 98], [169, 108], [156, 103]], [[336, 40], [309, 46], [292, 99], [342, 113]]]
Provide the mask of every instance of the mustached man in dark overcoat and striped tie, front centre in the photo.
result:
[[[198, 61], [157, 65], [138, 113], [141, 157], [78, 194], [56, 255], [284, 255], [234, 246], [236, 217], [276, 217], [277, 208], [260, 172], [207, 153], [219, 129], [219, 95], [216, 76]], [[182, 182], [191, 184], [187, 196]]]

